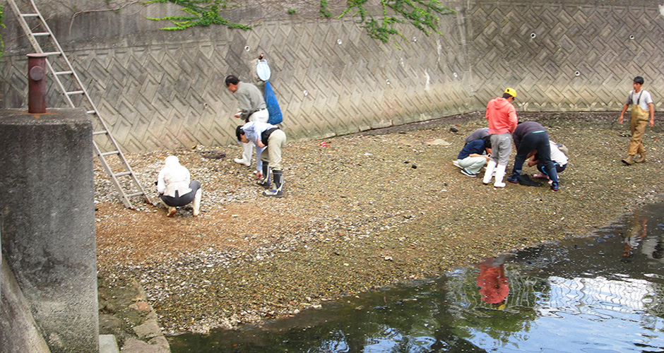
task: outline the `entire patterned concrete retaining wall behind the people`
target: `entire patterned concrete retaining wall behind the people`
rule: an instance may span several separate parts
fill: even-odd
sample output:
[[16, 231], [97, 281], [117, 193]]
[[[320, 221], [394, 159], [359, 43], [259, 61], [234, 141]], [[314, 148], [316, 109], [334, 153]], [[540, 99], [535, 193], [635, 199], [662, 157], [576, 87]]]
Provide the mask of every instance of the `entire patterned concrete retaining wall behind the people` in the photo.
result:
[[[664, 18], [656, 1], [448, 5], [458, 13], [441, 18], [442, 35], [405, 26], [403, 49], [372, 40], [351, 19], [287, 16], [285, 8], [229, 13], [252, 23], [249, 31], [158, 30], [167, 23], [146, 17], [177, 13], [158, 4], [76, 16], [59, 8], [50, 21], [126, 152], [235, 143], [237, 102], [223, 78], [256, 82], [261, 53], [290, 140], [481, 111], [506, 86], [516, 88], [520, 111], [617, 111], [640, 75], [656, 109], [663, 105]], [[6, 12], [0, 105], [25, 107], [31, 49]], [[49, 106], [63, 104], [52, 92]]]

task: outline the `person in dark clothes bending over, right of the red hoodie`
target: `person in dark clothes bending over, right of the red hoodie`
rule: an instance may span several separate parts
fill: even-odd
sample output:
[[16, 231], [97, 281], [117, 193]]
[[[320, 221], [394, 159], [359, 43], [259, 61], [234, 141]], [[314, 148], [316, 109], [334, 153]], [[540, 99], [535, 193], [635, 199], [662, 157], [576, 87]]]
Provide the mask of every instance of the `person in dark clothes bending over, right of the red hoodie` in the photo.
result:
[[537, 150], [539, 160], [544, 164], [544, 171], [549, 176], [549, 179], [551, 179], [551, 190], [558, 191], [558, 174], [551, 160], [549, 134], [544, 129], [544, 126], [535, 121], [525, 121], [516, 126], [512, 137], [514, 138], [514, 145], [516, 145], [516, 157], [514, 157], [512, 175], [507, 178], [507, 181], [518, 183], [523, 162], [526, 162], [530, 152]]

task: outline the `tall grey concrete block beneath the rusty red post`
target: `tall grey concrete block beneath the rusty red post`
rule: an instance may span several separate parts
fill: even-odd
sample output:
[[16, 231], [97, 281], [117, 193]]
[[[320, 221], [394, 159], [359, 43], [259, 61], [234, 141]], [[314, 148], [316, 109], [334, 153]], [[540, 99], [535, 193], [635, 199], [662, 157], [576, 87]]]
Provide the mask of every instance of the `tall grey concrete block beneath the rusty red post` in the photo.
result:
[[[25, 298], [30, 310], [25, 314], [34, 318], [52, 353], [97, 352], [90, 120], [80, 109], [49, 109], [45, 114], [4, 110], [0, 111], [0, 135], [4, 136], [0, 139], [0, 235], [3, 261], [21, 292], [15, 290], [15, 297]], [[30, 332], [25, 330], [26, 335]]]

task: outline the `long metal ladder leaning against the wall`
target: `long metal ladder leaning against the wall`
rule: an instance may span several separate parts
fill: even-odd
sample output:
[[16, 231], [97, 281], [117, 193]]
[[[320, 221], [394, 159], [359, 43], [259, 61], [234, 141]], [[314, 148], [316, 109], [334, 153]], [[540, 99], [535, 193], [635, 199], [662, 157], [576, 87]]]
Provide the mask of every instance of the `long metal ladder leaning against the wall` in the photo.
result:
[[[62, 51], [60, 44], [56, 40], [53, 32], [46, 23], [45, 18], [37, 9], [34, 0], [23, 1], [25, 4], [16, 4], [15, 0], [7, 0], [18, 17], [20, 26], [30, 40], [30, 44], [37, 53], [46, 54], [46, 65], [52, 73], [54, 82], [64, 94], [69, 107], [83, 107], [90, 116], [93, 123], [93, 145], [95, 153], [106, 170], [111, 181], [122, 198], [122, 202], [127, 208], [134, 208], [130, 198], [142, 196], [146, 203], [152, 204], [148, 194], [136, 179], [136, 175], [129, 167], [126, 158], [122, 154], [119, 145], [111, 135], [106, 123], [97, 111], [97, 107], [90, 99], [88, 91], [85, 90], [76, 71], [73, 70], [69, 59]], [[114, 160], [111, 160], [114, 159]], [[112, 166], [109, 164], [111, 162]], [[131, 181], [119, 181], [119, 177], [130, 177]], [[125, 178], [126, 179], [126, 178]], [[124, 186], [124, 188], [123, 188]], [[128, 189], [128, 192], [125, 192]], [[133, 191], [133, 192], [132, 192]]]

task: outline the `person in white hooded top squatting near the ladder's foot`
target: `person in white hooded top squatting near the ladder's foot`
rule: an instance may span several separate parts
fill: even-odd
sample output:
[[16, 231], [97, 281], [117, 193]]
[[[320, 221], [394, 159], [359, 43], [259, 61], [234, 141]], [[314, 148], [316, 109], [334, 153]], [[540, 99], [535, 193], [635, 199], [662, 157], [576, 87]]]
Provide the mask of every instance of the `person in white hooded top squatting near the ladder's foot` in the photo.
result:
[[168, 209], [166, 216], [173, 217], [178, 206], [194, 203], [194, 217], [201, 210], [201, 183], [190, 181], [189, 169], [183, 167], [174, 155], [166, 157], [164, 167], [157, 177], [157, 192]]

